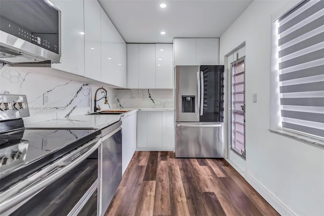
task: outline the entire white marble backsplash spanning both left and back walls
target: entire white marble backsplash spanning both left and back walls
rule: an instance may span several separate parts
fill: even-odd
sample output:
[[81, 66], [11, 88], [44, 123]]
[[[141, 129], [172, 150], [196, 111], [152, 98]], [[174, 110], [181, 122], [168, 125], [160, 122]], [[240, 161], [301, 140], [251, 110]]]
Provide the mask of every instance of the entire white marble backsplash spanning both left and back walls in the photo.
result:
[[[9, 67], [0, 62], [0, 94], [27, 95], [30, 117], [24, 122], [34, 123], [93, 111], [93, 99], [100, 84], [89, 84]], [[172, 89], [112, 89], [108, 104], [97, 102], [101, 110], [127, 107], [172, 108]], [[100, 90], [97, 98], [103, 97]]]

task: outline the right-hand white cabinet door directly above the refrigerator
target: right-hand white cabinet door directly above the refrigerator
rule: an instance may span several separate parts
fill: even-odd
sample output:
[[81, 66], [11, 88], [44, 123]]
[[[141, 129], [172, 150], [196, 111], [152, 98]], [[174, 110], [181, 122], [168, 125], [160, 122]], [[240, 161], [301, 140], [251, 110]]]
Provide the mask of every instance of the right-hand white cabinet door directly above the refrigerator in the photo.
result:
[[218, 65], [218, 38], [197, 38], [196, 65]]

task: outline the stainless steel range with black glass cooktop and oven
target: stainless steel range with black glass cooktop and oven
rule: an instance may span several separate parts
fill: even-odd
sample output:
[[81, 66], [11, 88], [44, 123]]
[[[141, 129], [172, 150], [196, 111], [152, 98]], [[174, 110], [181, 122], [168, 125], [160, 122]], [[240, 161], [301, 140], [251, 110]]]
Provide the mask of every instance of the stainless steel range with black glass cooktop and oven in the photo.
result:
[[26, 129], [25, 95], [0, 94], [0, 215], [100, 215], [101, 130]]

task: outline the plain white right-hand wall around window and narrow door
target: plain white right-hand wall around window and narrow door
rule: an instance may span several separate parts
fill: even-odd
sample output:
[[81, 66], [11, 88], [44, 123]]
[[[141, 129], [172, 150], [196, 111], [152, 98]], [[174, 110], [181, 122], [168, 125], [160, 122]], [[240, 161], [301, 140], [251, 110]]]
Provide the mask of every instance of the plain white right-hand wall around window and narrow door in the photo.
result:
[[[259, 183], [268, 190], [266, 199], [279, 213], [287, 211], [269, 197], [276, 197], [299, 215], [324, 215], [324, 148], [268, 130], [271, 15], [285, 4], [287, 1], [254, 1], [220, 38], [220, 64], [227, 53], [246, 42], [247, 159], [235, 154], [228, 157], [245, 172], [250, 184]], [[257, 103], [252, 102], [255, 92]]]

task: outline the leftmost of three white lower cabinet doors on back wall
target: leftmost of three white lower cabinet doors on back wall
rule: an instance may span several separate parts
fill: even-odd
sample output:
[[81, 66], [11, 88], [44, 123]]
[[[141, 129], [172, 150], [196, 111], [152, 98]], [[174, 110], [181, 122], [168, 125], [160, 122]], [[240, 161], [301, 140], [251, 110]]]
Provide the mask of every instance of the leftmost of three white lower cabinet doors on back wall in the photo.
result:
[[147, 148], [147, 112], [137, 112], [137, 148]]

